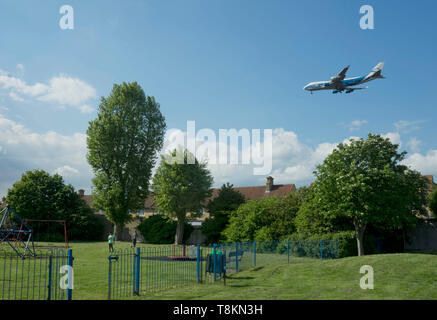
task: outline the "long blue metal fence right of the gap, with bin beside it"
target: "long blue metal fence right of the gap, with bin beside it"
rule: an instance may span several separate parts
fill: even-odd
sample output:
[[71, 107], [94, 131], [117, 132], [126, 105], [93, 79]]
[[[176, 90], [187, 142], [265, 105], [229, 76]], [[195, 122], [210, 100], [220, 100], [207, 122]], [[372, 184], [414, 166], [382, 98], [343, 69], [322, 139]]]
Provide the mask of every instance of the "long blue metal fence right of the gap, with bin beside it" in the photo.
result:
[[108, 257], [108, 299], [225, 281], [226, 275], [259, 265], [338, 256], [336, 240], [250, 241], [118, 250]]

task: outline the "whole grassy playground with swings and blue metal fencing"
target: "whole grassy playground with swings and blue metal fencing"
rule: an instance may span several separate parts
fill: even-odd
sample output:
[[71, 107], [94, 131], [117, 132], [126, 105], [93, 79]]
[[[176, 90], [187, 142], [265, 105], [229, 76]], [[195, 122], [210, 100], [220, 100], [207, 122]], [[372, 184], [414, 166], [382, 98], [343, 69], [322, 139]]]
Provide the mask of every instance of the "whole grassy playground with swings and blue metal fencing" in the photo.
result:
[[[437, 299], [432, 252], [338, 259], [338, 243], [324, 240], [136, 248], [116, 242], [109, 251], [106, 242], [69, 243], [62, 221], [51, 221], [61, 241], [48, 241], [34, 233], [35, 222], [47, 228], [47, 221], [5, 209], [0, 300]], [[375, 290], [360, 288], [362, 265], [375, 268]], [[71, 287], [62, 287], [66, 275]]]

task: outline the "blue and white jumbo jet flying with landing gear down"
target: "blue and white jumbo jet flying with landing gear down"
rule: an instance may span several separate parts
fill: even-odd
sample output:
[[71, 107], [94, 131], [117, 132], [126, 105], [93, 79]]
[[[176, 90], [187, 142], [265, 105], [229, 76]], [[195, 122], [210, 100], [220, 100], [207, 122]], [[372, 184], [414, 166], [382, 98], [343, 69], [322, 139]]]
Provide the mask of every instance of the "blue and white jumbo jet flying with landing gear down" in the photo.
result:
[[332, 93], [341, 93], [345, 91], [345, 93], [351, 93], [355, 90], [363, 90], [367, 89], [368, 87], [361, 87], [361, 88], [351, 88], [353, 86], [357, 86], [359, 84], [363, 84], [375, 79], [385, 79], [385, 77], [382, 76], [382, 68], [384, 68], [384, 62], [378, 63], [373, 69], [372, 72], [370, 72], [366, 76], [361, 77], [355, 77], [355, 78], [346, 78], [346, 72], [349, 70], [350, 66], [347, 66], [341, 72], [336, 75], [335, 77], [331, 77], [330, 81], [318, 81], [318, 82], [311, 82], [307, 84], [303, 89], [310, 91], [311, 94], [313, 91], [319, 91], [319, 90], [334, 90]]

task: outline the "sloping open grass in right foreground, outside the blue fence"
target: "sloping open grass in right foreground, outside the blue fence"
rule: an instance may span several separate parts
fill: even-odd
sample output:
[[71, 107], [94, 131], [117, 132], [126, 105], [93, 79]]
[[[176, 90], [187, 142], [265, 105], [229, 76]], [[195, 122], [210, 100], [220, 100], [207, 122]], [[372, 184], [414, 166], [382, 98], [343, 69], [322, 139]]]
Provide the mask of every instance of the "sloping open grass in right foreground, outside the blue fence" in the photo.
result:
[[[374, 269], [374, 289], [360, 288], [362, 265]], [[437, 299], [437, 256], [390, 254], [338, 260], [299, 259], [252, 267], [223, 283], [196, 285], [137, 299]]]

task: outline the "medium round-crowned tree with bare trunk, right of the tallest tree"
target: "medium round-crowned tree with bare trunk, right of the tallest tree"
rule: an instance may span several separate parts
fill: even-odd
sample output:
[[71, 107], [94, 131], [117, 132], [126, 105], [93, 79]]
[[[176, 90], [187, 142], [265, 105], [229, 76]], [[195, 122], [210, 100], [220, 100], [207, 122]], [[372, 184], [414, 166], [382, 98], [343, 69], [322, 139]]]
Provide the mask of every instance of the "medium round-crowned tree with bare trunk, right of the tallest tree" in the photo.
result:
[[153, 177], [153, 194], [158, 210], [178, 222], [175, 243], [182, 243], [187, 213], [202, 214], [205, 199], [211, 196], [213, 178], [187, 150], [174, 150], [161, 157]]

